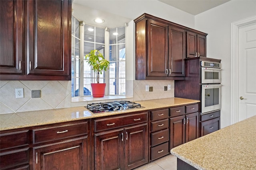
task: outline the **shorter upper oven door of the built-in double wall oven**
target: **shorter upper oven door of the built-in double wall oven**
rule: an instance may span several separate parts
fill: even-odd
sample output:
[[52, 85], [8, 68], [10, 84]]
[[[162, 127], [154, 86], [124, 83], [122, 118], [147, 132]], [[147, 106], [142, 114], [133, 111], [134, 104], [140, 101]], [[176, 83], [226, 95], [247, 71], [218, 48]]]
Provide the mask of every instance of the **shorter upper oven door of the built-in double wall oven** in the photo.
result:
[[221, 83], [221, 68], [201, 67], [201, 83]]

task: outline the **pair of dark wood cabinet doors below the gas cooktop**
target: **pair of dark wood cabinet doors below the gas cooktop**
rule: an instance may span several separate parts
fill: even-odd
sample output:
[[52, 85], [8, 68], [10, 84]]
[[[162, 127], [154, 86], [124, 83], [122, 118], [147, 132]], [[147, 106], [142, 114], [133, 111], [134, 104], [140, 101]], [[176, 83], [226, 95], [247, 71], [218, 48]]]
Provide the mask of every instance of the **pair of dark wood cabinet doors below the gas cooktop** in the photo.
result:
[[131, 170], [147, 162], [147, 123], [94, 135], [95, 170]]

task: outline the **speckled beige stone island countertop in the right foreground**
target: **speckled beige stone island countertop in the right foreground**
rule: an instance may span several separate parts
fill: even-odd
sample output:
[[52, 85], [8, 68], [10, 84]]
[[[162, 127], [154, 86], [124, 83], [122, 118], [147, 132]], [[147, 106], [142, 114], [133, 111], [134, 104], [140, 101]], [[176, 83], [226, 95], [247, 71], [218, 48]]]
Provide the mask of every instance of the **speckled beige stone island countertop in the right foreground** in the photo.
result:
[[256, 116], [171, 150], [198, 170], [256, 170]]

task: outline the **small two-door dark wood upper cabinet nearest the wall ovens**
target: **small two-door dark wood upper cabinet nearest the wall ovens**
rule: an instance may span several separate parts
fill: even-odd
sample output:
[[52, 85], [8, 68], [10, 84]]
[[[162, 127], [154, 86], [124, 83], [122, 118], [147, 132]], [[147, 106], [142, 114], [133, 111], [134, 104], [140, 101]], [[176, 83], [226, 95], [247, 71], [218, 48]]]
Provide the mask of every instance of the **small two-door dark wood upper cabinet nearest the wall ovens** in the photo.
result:
[[186, 57], [206, 57], [206, 35], [187, 31]]

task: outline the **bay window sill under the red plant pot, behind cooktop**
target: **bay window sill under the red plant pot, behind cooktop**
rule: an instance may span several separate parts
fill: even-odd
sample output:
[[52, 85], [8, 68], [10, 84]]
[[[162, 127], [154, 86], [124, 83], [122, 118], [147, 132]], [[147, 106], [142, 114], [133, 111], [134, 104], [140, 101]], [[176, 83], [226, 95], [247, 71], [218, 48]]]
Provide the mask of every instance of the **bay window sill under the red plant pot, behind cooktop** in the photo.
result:
[[94, 98], [90, 96], [90, 97], [82, 97], [82, 98], [71, 98], [71, 102], [72, 103], [76, 103], [76, 102], [99, 103], [99, 102], [108, 102], [108, 100], [110, 101], [124, 100], [124, 99], [132, 100], [132, 98], [133, 97], [131, 96], [104, 96], [102, 98]]

